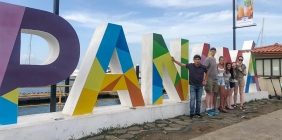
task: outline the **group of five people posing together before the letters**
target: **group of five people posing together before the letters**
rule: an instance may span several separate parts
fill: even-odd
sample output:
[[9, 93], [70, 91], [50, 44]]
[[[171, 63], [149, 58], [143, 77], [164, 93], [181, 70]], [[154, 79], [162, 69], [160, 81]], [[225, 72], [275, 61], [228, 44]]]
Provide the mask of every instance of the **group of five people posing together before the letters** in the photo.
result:
[[[202, 117], [201, 98], [203, 89], [206, 91], [205, 113], [214, 116], [220, 112], [227, 113], [236, 107], [244, 109], [244, 86], [246, 66], [242, 63], [243, 56], [239, 56], [237, 62], [225, 62], [220, 56], [219, 63], [216, 63], [216, 48], [210, 49], [210, 56], [201, 64], [201, 56], [195, 55], [194, 63], [183, 64], [172, 57], [172, 60], [181, 67], [189, 69], [190, 85], [190, 118]], [[203, 88], [204, 87], [204, 88]], [[238, 89], [240, 93], [240, 106], [237, 106]], [[234, 104], [232, 105], [232, 94], [234, 92]], [[217, 98], [220, 94], [220, 104], [217, 106]], [[195, 108], [196, 102], [196, 108]]]

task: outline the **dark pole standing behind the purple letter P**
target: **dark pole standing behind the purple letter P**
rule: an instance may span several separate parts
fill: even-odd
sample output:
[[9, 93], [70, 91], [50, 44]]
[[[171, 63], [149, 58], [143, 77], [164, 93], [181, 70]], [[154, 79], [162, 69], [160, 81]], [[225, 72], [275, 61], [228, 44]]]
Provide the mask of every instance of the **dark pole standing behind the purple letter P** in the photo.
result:
[[[54, 0], [53, 13], [59, 15], [59, 0]], [[50, 92], [50, 112], [56, 112], [57, 104], [57, 84], [51, 85]]]

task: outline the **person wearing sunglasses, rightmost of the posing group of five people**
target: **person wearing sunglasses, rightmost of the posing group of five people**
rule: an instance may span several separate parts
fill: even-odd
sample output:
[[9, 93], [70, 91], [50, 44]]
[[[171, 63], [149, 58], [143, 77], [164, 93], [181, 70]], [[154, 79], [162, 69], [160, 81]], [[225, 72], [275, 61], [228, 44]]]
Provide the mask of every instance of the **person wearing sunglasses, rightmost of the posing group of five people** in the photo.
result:
[[[240, 94], [240, 109], [244, 109], [244, 86], [245, 86], [245, 79], [244, 76], [246, 76], [246, 65], [243, 64], [243, 56], [238, 57], [237, 62], [237, 80], [238, 80], [238, 86], [239, 86], [239, 94]], [[236, 92], [234, 92], [235, 94]], [[235, 104], [235, 103], [234, 103]]]

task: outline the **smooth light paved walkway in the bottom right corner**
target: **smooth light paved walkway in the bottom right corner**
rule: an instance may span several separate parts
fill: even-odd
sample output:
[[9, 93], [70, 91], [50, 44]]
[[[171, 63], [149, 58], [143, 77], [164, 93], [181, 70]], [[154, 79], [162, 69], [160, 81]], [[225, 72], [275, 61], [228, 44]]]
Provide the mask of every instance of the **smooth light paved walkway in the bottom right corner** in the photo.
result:
[[281, 140], [282, 110], [237, 123], [193, 140]]

